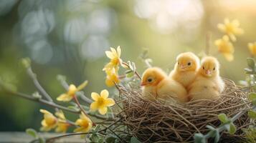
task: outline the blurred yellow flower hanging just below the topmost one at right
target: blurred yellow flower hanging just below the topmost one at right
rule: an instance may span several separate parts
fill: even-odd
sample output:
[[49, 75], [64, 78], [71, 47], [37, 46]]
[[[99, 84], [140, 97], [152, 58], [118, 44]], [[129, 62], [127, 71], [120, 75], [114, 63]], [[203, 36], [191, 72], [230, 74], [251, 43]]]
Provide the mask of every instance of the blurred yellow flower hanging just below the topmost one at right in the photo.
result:
[[225, 56], [227, 61], [233, 61], [234, 46], [229, 41], [229, 37], [227, 35], [224, 35], [222, 39], [217, 39], [215, 41], [215, 45], [218, 47], [218, 51]]

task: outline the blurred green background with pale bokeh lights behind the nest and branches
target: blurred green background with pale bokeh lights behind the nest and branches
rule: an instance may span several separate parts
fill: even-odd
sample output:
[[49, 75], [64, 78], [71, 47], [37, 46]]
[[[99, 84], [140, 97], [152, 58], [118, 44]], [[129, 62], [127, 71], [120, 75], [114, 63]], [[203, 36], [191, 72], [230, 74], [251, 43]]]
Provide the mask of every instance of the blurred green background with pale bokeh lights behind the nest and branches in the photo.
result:
[[[239, 19], [245, 34], [234, 43], [234, 61], [217, 57], [222, 77], [238, 82], [245, 79], [247, 43], [256, 41], [255, 7], [255, 0], [1, 0], [0, 76], [32, 94], [36, 89], [20, 64], [22, 57], [29, 57], [53, 98], [65, 92], [57, 74], [77, 85], [89, 80], [84, 92], [90, 97], [108, 89], [102, 69], [110, 46], [120, 45], [121, 58], [136, 62], [139, 73], [145, 69], [138, 58], [144, 48], [153, 66], [170, 71], [177, 54], [204, 51], [208, 32], [210, 53], [215, 54], [214, 40], [223, 35], [217, 24], [229, 18]], [[39, 129], [40, 108], [49, 109], [1, 93], [0, 131]]]

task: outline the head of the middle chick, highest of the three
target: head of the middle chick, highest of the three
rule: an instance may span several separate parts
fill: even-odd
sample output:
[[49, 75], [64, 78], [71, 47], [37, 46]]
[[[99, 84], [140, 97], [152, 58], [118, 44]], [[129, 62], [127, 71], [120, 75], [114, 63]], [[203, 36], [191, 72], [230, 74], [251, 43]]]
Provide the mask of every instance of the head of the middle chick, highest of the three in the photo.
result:
[[192, 52], [177, 56], [175, 69], [178, 71], [196, 71], [199, 68], [199, 58]]

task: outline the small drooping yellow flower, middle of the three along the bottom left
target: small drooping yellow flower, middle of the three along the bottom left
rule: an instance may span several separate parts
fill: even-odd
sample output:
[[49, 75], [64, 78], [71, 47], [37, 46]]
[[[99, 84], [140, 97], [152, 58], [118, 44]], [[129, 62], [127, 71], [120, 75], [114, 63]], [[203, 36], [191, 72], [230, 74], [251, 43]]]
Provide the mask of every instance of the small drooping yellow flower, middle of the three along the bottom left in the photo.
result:
[[67, 123], [67, 119], [64, 113], [60, 110], [59, 112], [56, 112], [55, 115], [58, 117], [57, 128], [55, 129], [55, 132], [67, 132], [68, 127], [70, 127], [70, 124]]

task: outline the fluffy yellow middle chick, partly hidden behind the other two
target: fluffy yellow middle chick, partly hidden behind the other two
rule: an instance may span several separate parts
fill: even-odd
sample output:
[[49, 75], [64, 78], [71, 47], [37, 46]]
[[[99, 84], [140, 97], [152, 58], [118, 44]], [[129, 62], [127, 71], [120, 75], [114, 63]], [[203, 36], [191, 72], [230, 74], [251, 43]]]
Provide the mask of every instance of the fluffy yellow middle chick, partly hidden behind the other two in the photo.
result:
[[198, 68], [199, 58], [194, 53], [181, 53], [177, 56], [174, 70], [171, 71], [169, 77], [187, 88], [194, 82]]

